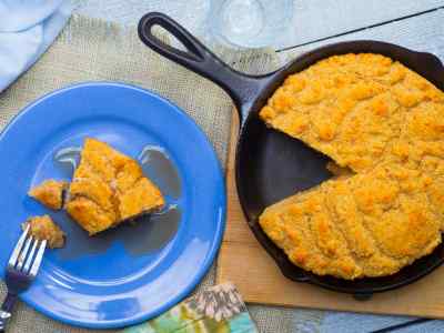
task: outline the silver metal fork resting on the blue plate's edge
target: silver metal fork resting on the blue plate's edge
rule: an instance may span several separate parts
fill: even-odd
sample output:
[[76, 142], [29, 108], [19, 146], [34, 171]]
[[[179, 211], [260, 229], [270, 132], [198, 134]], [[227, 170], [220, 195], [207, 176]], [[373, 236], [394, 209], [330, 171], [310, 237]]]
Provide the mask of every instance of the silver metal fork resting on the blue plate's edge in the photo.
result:
[[34, 280], [46, 248], [47, 241], [39, 241], [29, 235], [29, 225], [27, 225], [8, 261], [4, 279], [8, 295], [0, 310], [0, 333], [6, 330], [19, 293], [26, 291]]

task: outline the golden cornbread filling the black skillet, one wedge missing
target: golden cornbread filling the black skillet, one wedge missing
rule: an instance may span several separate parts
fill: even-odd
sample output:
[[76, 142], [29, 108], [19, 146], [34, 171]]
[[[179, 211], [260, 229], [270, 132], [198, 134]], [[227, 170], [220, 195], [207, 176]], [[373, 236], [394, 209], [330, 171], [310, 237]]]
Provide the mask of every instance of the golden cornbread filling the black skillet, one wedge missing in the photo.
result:
[[444, 93], [431, 82], [380, 54], [335, 56], [286, 78], [260, 117], [329, 155], [342, 175], [260, 216], [294, 264], [383, 276], [441, 243]]

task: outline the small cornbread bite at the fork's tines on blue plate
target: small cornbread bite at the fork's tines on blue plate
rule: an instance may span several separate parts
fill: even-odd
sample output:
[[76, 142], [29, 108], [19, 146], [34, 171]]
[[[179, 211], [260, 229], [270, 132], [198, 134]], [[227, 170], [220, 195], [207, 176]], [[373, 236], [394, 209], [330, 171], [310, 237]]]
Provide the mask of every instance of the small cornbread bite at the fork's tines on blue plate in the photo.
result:
[[22, 229], [24, 230], [27, 225], [30, 226], [30, 234], [38, 240], [47, 240], [49, 248], [63, 248], [64, 232], [49, 215], [30, 218], [22, 224]]

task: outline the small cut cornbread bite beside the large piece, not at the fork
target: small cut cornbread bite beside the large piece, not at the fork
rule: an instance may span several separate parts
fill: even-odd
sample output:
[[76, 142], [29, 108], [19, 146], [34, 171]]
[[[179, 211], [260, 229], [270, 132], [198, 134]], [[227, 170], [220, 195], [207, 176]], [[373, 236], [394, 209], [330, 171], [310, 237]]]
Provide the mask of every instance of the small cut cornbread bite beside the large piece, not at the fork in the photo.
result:
[[63, 206], [63, 192], [68, 189], [68, 182], [46, 180], [32, 188], [28, 195], [52, 210], [61, 210]]

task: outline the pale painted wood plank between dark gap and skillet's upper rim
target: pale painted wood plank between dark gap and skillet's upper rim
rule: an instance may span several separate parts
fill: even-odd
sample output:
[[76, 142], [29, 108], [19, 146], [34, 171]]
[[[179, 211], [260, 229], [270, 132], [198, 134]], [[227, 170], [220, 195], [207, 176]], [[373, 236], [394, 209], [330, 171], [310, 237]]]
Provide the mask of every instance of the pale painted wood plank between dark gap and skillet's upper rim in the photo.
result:
[[323, 44], [360, 39], [381, 40], [412, 50], [431, 52], [444, 62], [444, 9], [342, 37], [331, 38], [322, 42], [283, 51], [279, 54], [283, 61], [286, 61], [297, 57], [302, 52], [313, 50]]

